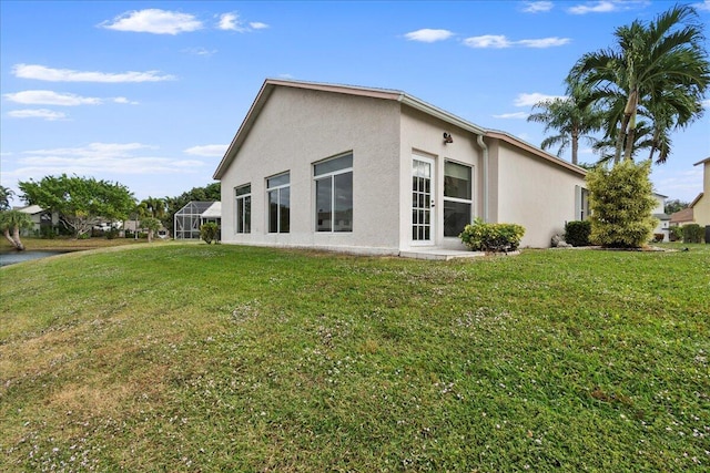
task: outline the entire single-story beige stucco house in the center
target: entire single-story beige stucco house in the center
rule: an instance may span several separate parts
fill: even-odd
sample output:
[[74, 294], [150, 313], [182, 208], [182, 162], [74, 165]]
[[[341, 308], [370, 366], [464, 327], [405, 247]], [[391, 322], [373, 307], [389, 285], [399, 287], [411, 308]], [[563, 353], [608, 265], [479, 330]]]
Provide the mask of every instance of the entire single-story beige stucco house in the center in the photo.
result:
[[585, 169], [404, 92], [266, 80], [217, 166], [222, 241], [465, 249], [479, 217], [548, 247], [587, 217]]

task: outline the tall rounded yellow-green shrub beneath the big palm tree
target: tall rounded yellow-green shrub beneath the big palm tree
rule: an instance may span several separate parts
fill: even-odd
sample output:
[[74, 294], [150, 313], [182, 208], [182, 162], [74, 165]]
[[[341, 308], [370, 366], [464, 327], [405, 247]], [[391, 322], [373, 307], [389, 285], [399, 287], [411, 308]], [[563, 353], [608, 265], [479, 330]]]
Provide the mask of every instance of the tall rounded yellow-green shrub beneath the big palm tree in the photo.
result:
[[651, 162], [625, 160], [610, 169], [597, 166], [587, 173], [592, 243], [609, 248], [639, 248], [651, 238], [658, 219], [649, 178]]

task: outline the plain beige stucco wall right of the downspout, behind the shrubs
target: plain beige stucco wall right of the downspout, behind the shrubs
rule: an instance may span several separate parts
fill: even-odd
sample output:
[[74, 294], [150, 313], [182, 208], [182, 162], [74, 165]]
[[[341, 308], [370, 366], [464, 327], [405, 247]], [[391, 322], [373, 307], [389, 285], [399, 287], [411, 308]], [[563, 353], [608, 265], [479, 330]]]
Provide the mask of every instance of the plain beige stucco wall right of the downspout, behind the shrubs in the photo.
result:
[[576, 217], [575, 186], [585, 186], [584, 177], [499, 140], [490, 153], [497, 167], [497, 222], [525, 227], [521, 247], [549, 247]]

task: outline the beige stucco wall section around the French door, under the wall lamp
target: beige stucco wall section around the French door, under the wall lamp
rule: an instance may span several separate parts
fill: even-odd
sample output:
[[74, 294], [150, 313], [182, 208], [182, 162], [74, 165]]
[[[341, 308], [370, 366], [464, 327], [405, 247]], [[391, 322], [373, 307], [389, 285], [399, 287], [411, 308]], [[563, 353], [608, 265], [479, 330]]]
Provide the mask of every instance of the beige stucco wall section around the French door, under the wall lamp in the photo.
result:
[[[453, 136], [454, 142], [444, 144], [444, 132]], [[402, 167], [399, 179], [402, 186], [399, 226], [400, 249], [413, 247], [412, 241], [412, 158], [420, 155], [434, 160], [434, 246], [439, 248], [466, 249], [456, 237], [444, 237], [444, 163], [453, 161], [473, 166], [473, 217], [483, 214], [483, 186], [479, 183], [481, 150], [476, 143], [476, 135], [446, 122], [403, 106], [402, 110]]]

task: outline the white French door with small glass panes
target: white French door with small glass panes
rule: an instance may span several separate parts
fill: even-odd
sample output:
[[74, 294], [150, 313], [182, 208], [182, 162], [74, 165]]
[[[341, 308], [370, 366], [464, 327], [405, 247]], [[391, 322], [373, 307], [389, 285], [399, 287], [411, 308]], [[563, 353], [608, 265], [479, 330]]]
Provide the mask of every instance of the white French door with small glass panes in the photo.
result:
[[412, 244], [432, 245], [435, 235], [434, 160], [412, 158]]

